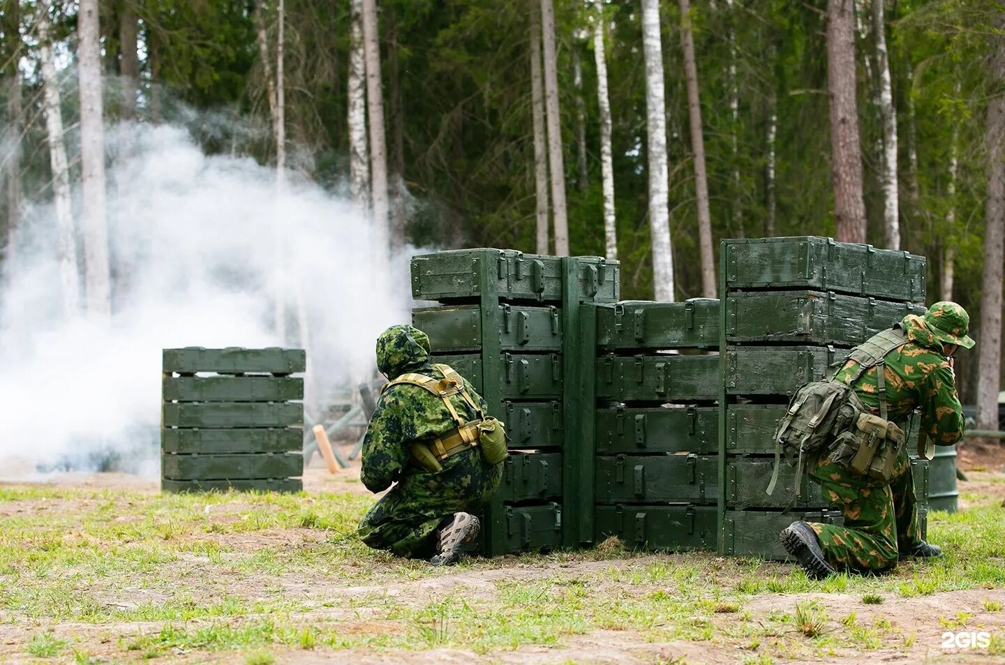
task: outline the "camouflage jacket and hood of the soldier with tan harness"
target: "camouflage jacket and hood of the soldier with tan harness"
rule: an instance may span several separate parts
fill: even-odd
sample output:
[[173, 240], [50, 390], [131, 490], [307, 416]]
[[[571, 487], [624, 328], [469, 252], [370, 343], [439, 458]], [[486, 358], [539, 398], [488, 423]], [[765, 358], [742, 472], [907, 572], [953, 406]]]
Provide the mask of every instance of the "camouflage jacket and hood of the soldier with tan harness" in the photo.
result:
[[[434, 379], [443, 375], [432, 366], [429, 338], [409, 325], [388, 328], [377, 341], [377, 367], [390, 379], [403, 374], [423, 374]], [[468, 395], [482, 411], [488, 405], [464, 380]], [[459, 396], [448, 398], [465, 419], [477, 418]], [[409, 461], [412, 443], [445, 434], [456, 427], [443, 400], [418, 386], [407, 384], [385, 390], [377, 402], [363, 440], [360, 479], [367, 489], [379, 492], [405, 473], [414, 471]]]

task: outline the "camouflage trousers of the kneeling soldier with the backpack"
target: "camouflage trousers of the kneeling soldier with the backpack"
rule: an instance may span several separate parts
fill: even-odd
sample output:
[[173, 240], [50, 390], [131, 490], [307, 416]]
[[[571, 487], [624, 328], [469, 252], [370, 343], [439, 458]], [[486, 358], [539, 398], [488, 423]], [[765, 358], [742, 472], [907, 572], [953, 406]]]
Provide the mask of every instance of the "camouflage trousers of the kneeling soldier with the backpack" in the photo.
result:
[[889, 482], [867, 480], [823, 458], [810, 475], [844, 515], [844, 524], [810, 523], [827, 563], [859, 573], [896, 566], [897, 553], [921, 540], [915, 481], [907, 452]]

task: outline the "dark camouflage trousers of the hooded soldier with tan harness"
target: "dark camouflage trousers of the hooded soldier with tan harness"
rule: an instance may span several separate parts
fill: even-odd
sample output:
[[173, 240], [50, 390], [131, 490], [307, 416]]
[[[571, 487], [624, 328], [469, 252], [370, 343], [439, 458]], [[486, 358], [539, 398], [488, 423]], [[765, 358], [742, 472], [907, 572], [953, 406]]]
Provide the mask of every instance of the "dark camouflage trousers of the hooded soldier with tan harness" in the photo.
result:
[[357, 533], [375, 549], [397, 557], [428, 559], [435, 533], [454, 512], [477, 511], [495, 492], [502, 465], [486, 463], [477, 449], [443, 462], [439, 473], [409, 469], [360, 521]]

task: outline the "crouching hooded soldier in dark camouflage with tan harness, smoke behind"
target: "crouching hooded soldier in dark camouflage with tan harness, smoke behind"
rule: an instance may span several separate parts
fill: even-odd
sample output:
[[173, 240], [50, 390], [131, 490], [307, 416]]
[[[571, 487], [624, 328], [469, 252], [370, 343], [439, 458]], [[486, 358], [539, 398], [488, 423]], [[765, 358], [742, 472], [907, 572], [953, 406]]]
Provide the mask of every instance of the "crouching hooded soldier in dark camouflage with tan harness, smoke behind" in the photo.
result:
[[359, 535], [398, 557], [455, 564], [477, 537], [471, 514], [498, 487], [507, 454], [502, 424], [446, 365], [431, 363], [429, 338], [393, 325], [377, 339], [384, 387], [363, 441], [361, 479], [380, 492]]

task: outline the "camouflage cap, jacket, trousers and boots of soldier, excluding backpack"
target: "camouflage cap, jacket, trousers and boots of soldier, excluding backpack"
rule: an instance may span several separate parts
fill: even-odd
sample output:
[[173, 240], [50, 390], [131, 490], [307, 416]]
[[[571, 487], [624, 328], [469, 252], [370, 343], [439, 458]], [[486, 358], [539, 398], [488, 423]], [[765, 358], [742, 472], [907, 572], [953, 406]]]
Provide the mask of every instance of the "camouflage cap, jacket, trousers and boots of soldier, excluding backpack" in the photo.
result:
[[[858, 368], [847, 361], [835, 379], [850, 385], [861, 403], [879, 412], [876, 372], [883, 368], [888, 420], [902, 423], [921, 410], [922, 433], [938, 445], [963, 438], [963, 411], [957, 397], [953, 355], [971, 349], [970, 317], [955, 302], [937, 302], [924, 316], [909, 314], [899, 323], [909, 340], [852, 383]], [[873, 338], [875, 339], [875, 338]], [[942, 550], [922, 540], [918, 531], [915, 484], [907, 446], [902, 446], [888, 482], [855, 474], [823, 454], [811, 470], [823, 493], [844, 515], [844, 525], [793, 522], [782, 531], [786, 549], [810, 577], [836, 570], [887, 571], [898, 558], [939, 557]]]

